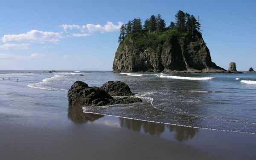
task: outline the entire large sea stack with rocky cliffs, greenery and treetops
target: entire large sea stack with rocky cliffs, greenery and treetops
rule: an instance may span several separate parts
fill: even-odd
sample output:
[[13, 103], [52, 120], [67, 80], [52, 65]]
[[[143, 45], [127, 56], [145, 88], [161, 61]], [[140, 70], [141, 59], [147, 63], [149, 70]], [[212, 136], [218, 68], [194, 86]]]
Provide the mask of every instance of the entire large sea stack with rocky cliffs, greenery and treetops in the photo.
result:
[[152, 15], [142, 25], [140, 18], [120, 28], [114, 72], [216, 72], [224, 69], [212, 62], [193, 15], [178, 11], [175, 23], [166, 27], [161, 15]]

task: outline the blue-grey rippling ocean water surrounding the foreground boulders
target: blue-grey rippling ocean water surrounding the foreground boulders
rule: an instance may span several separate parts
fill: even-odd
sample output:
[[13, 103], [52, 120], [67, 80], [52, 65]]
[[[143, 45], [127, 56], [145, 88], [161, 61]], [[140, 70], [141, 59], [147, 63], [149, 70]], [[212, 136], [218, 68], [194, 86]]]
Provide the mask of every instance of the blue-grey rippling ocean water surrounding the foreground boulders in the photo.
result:
[[127, 105], [84, 106], [86, 113], [256, 134], [256, 73], [0, 71], [0, 108], [67, 112], [67, 91], [77, 80], [97, 87], [123, 81], [143, 99]]

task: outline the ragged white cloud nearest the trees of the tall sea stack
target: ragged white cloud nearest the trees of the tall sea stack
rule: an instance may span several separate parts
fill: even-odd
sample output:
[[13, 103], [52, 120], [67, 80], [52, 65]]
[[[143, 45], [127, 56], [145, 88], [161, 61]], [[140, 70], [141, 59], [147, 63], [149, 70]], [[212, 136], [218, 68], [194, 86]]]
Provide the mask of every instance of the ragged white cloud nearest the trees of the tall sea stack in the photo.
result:
[[123, 24], [122, 22], [118, 22], [117, 25], [113, 24], [113, 22], [107, 22], [104, 26], [102, 26], [100, 24], [86, 24], [86, 25], [83, 25], [83, 26], [79, 26], [79, 25], [76, 25], [76, 24], [72, 24], [72, 25], [62, 24], [60, 27], [62, 27], [64, 29], [64, 31], [66, 31], [66, 32], [67, 32], [68, 29], [70, 29], [70, 30], [78, 29], [81, 32], [87, 31], [90, 34], [87, 34], [87, 35], [84, 35], [84, 36], [88, 36], [88, 35], [93, 34], [94, 32], [105, 33], [105, 32], [119, 31], [122, 24]]

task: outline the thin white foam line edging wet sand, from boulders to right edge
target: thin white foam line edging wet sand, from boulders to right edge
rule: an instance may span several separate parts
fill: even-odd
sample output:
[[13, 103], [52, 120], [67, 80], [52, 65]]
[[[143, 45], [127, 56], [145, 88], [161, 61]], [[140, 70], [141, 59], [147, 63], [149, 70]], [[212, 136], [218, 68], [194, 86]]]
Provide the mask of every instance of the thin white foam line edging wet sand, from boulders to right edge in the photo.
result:
[[[97, 115], [114, 116], [114, 115], [110, 115], [110, 114], [94, 113], [94, 112], [87, 112], [87, 111], [84, 111], [84, 113], [93, 113], [93, 114], [97, 114]], [[143, 122], [160, 123], [160, 124], [165, 124], [165, 125], [175, 125], [175, 126], [181, 126], [181, 127], [189, 127], [189, 128], [197, 128], [197, 129], [207, 129], [207, 130], [212, 130], [212, 131], [227, 131], [227, 132], [235, 132], [235, 133], [256, 134], [256, 133], [252, 133], [252, 132], [230, 131], [230, 130], [222, 130], [222, 129], [214, 129], [214, 128], [193, 127], [193, 126], [189, 126], [189, 125], [178, 125], [178, 124], [173, 124], [173, 123], [149, 121], [149, 120], [144, 120], [144, 119], [136, 119], [136, 118], [124, 117], [124, 116], [114, 116], [114, 117], [125, 118], [125, 119], [134, 119], [134, 120], [143, 121]]]

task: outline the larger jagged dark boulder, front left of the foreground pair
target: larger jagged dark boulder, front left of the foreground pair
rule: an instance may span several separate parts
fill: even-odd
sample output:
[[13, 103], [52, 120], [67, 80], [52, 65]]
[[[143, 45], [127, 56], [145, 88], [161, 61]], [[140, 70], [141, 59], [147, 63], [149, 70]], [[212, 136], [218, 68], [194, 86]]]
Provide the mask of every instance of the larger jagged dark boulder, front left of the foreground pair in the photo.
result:
[[99, 87], [88, 87], [83, 81], [76, 81], [67, 94], [71, 105], [108, 105], [113, 97]]

